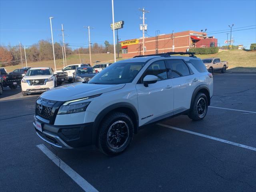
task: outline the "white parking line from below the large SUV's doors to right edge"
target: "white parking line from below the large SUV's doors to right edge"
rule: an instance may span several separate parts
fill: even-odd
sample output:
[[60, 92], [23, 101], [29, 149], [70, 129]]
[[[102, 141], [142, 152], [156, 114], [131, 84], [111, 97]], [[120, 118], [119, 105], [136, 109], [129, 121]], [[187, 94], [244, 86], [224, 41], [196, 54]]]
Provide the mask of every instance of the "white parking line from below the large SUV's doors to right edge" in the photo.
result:
[[161, 124], [161, 123], [158, 123], [157, 125], [160, 125], [160, 126], [163, 126], [163, 127], [167, 127], [167, 128], [171, 128], [171, 129], [175, 129], [175, 130], [182, 131], [182, 132], [186, 132], [186, 133], [190, 133], [190, 134], [193, 134], [193, 135], [205, 137], [205, 138], [208, 138], [208, 139], [220, 141], [220, 142], [227, 143], [227, 144], [230, 144], [230, 145], [246, 148], [246, 149], [249, 149], [249, 150], [256, 151], [256, 148], [254, 148], [254, 147], [250, 147], [250, 146], [247, 146], [247, 145], [235, 143], [235, 142], [232, 142], [232, 141], [228, 141], [228, 140], [224, 140], [224, 139], [220, 139], [220, 138], [216, 138], [216, 137], [200, 134], [200, 133], [197, 133], [197, 132], [193, 132], [193, 131], [189, 131], [189, 130], [185, 130], [185, 129], [181, 129], [181, 128], [177, 128], [177, 127], [173, 127], [173, 126], [169, 126], [169, 125], [165, 125], [165, 124]]

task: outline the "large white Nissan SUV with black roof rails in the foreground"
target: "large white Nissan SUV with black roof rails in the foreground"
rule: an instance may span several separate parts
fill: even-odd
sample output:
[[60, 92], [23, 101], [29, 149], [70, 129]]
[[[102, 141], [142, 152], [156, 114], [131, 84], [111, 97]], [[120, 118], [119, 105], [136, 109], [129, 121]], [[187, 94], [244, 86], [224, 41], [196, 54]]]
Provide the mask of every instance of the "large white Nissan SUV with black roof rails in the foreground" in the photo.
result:
[[143, 126], [177, 114], [202, 120], [212, 97], [212, 74], [193, 53], [172, 54], [118, 61], [87, 83], [48, 90], [36, 101], [38, 136], [60, 148], [96, 144], [115, 155]]

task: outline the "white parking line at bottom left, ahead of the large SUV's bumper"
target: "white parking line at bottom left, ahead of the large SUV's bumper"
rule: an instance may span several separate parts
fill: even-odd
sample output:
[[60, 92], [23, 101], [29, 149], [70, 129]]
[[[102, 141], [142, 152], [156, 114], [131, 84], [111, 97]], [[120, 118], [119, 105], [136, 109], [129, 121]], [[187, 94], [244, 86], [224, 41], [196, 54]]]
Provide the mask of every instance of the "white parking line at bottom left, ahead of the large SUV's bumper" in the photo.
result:
[[50, 160], [52, 160], [60, 168], [74, 180], [84, 191], [86, 192], [98, 192], [90, 183], [82, 178], [77, 172], [75, 172], [70, 166], [64, 163], [60, 158], [57, 158], [44, 144], [37, 145], [37, 147], [44, 153]]

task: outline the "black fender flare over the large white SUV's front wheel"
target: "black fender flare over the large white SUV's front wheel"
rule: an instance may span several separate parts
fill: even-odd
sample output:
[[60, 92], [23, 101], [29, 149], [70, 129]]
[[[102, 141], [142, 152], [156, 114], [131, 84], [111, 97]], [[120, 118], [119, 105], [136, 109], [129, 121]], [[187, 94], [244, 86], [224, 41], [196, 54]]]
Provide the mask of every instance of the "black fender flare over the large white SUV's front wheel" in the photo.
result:
[[[119, 102], [119, 103], [115, 103], [115, 104], [112, 104], [106, 108], [104, 108], [104, 110], [102, 110], [98, 115], [97, 117], [95, 118], [94, 120], [94, 124], [93, 124], [93, 129], [92, 129], [92, 141], [94, 143], [96, 143], [96, 139], [97, 139], [97, 136], [98, 136], [98, 130], [99, 130], [99, 126], [100, 126], [100, 123], [102, 122], [103, 118], [111, 111], [115, 110], [115, 109], [118, 109], [118, 108], [127, 108], [129, 109], [130, 111], [133, 112], [134, 114], [134, 117], [135, 117], [135, 124], [134, 124], [134, 132], [137, 133], [138, 131], [138, 126], [139, 126], [139, 115], [138, 115], [138, 112], [136, 110], [136, 108], [130, 104], [130, 103], [127, 103], [127, 102]], [[132, 118], [132, 117], [131, 117]]]

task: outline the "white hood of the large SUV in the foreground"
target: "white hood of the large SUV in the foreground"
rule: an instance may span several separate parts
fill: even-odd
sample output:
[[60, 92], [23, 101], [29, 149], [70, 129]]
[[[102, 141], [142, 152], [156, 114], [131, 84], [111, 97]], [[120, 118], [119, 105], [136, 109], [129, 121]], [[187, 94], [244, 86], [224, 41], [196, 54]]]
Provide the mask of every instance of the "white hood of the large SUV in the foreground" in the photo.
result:
[[124, 87], [125, 84], [106, 85], [106, 84], [89, 84], [73, 83], [44, 92], [40, 97], [52, 101], [70, 101], [88, 96], [102, 94]]

